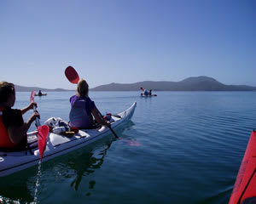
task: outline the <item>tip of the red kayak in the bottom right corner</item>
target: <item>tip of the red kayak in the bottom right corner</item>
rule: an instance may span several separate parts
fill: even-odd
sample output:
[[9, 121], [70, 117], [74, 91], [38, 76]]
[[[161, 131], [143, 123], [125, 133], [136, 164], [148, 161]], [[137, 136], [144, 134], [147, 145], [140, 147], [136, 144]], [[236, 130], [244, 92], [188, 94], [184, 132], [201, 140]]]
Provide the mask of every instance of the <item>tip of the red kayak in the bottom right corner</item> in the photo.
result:
[[256, 131], [253, 130], [237, 173], [229, 204], [256, 203]]

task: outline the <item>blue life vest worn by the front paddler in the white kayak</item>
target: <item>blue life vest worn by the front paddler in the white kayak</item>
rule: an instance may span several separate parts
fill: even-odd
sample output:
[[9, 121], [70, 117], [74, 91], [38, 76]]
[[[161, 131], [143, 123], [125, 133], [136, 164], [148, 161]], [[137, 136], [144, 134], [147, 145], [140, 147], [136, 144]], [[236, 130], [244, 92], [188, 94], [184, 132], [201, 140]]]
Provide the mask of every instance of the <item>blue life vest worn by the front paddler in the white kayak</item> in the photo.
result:
[[92, 127], [91, 115], [86, 111], [86, 99], [76, 99], [69, 112], [71, 127], [90, 128]]

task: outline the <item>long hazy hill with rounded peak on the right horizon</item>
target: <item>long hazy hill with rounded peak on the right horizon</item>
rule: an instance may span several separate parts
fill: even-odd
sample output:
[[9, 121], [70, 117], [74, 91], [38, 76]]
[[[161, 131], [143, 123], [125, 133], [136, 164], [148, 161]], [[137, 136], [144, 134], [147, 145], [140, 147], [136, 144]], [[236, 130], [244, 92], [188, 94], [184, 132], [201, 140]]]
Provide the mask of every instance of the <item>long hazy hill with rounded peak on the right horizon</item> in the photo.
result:
[[91, 88], [91, 91], [138, 91], [141, 87], [154, 91], [256, 91], [246, 85], [225, 85], [212, 77], [189, 77], [180, 82], [109, 83]]

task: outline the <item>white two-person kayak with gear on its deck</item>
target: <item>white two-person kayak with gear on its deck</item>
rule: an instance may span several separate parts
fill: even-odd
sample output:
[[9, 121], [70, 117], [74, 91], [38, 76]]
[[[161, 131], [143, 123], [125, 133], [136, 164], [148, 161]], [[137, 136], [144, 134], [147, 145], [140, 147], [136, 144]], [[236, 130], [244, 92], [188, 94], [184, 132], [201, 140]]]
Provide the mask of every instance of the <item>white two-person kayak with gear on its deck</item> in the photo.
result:
[[[130, 108], [111, 116], [111, 127], [116, 129], [131, 120], [137, 103], [134, 102]], [[44, 161], [49, 161], [56, 156], [67, 154], [70, 151], [77, 150], [102, 139], [111, 134], [108, 127], [102, 126], [96, 129], [82, 129], [72, 136], [64, 136], [62, 134], [49, 133], [46, 147], [44, 150]], [[37, 131], [27, 133], [27, 141], [30, 144], [30, 150], [3, 152], [0, 151], [0, 177], [7, 176], [11, 173], [19, 172], [38, 165], [40, 159], [37, 145]], [[34, 145], [34, 147], [33, 147]]]

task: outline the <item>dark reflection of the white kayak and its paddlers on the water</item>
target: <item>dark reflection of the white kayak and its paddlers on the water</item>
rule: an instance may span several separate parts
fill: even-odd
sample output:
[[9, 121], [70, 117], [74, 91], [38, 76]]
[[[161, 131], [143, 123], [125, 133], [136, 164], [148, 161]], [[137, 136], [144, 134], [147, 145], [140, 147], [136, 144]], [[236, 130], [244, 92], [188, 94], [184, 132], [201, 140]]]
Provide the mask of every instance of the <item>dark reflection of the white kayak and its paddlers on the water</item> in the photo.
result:
[[[114, 141], [114, 140], [113, 140]], [[96, 150], [95, 152], [85, 150], [84, 154], [80, 156], [68, 156], [69, 161], [63, 161], [66, 163], [64, 167], [68, 169], [72, 169], [73, 173], [75, 173], [75, 178], [70, 183], [70, 186], [73, 190], [79, 190], [79, 184], [82, 181], [84, 176], [89, 175], [90, 173], [95, 173], [96, 169], [99, 169], [104, 161], [104, 157], [107, 155], [107, 150], [110, 148], [112, 142], [106, 142], [103, 145], [102, 150]], [[56, 158], [56, 160], [58, 160]], [[61, 159], [63, 160], [63, 159]], [[81, 162], [82, 161], [82, 162]], [[51, 163], [51, 161], [50, 161]], [[63, 163], [62, 163], [63, 164]], [[45, 176], [46, 173], [52, 171], [50, 169], [51, 164], [43, 163], [42, 174]], [[44, 169], [46, 167], [47, 169]], [[58, 164], [57, 167], [63, 168], [63, 165]], [[26, 170], [25, 170], [26, 171]], [[56, 173], [60, 173], [62, 171], [67, 171], [66, 169], [55, 170]], [[13, 176], [9, 176], [7, 178], [1, 178], [0, 182], [0, 203], [38, 203], [40, 202], [40, 194], [44, 194], [44, 190], [47, 190], [47, 184], [51, 182], [51, 179], [42, 178], [40, 183], [38, 184], [38, 173], [29, 171], [30, 173], [15, 173]], [[19, 176], [20, 175], [20, 176]], [[29, 177], [29, 175], [31, 177]], [[67, 176], [65, 173], [60, 173], [61, 178], [70, 178], [74, 175]], [[46, 182], [46, 183], [45, 183]], [[58, 182], [58, 181], [55, 181]], [[96, 181], [89, 181], [89, 190], [93, 190], [95, 187]], [[33, 189], [34, 188], [34, 189]], [[45, 189], [46, 188], [46, 189]], [[36, 192], [37, 191], [37, 192]], [[88, 192], [86, 195], [90, 195]], [[35, 195], [36, 197], [34, 197]]]

